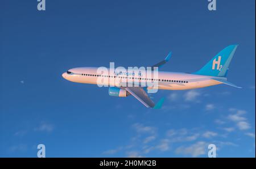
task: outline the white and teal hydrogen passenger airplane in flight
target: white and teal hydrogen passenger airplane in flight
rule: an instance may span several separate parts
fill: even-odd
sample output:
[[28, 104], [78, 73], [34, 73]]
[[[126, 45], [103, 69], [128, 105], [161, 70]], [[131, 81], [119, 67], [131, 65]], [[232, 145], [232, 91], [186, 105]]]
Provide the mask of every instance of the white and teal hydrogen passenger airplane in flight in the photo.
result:
[[[226, 78], [230, 61], [232, 60], [237, 47], [238, 45], [229, 45], [216, 54], [212, 60], [195, 73], [158, 71], [157, 79], [148, 79], [145, 75], [141, 74], [100, 74], [97, 73], [98, 67], [77, 67], [69, 69], [62, 74], [62, 77], [71, 82], [88, 84], [98, 84], [99, 81], [97, 81], [97, 79], [103, 78], [108, 80], [108, 84], [114, 85], [109, 87], [110, 96], [127, 97], [132, 95], [147, 108], [159, 109], [162, 107], [164, 98], [160, 99], [159, 102], [155, 104], [151, 100], [150, 96], [148, 96], [148, 91], [150, 91], [152, 87], [150, 88], [147, 85], [145, 87], [135, 85], [129, 87], [129, 85], [127, 86], [122, 83], [116, 85], [113, 82], [120, 78], [131, 79], [131, 83], [133, 84], [152, 80], [158, 82], [158, 90], [190, 90], [193, 88], [203, 88], [217, 84], [227, 84], [229, 86], [241, 88], [228, 82]], [[170, 60], [170, 58], [171, 52], [163, 61], [151, 66], [151, 68], [162, 67]], [[110, 69], [108, 69], [108, 71], [110, 72]], [[105, 84], [106, 82], [100, 81], [100, 83]]]

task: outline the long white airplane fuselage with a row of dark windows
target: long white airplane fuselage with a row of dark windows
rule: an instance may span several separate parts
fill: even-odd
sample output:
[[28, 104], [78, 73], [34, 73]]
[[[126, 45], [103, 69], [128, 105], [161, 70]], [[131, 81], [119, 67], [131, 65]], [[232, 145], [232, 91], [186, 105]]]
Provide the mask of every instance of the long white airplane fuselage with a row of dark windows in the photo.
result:
[[[141, 83], [148, 81], [146, 74], [144, 75], [117, 75], [111, 73], [97, 73], [97, 67], [77, 67], [63, 73], [63, 78], [71, 82], [98, 84], [104, 86], [117, 86], [116, 82], [129, 81], [131, 83]], [[109, 69], [108, 69], [109, 70]], [[111, 71], [109, 71], [111, 72]], [[99, 81], [101, 78], [101, 81]], [[152, 79], [151, 79], [152, 78]], [[158, 89], [161, 90], [188, 90], [193, 88], [208, 87], [221, 82], [212, 80], [210, 76], [197, 75], [190, 73], [176, 73], [167, 71], [158, 71], [157, 77], [150, 77], [150, 81], [158, 82]], [[216, 78], [216, 77], [214, 77]], [[226, 79], [226, 78], [220, 78]], [[148, 86], [146, 86], [148, 87]]]

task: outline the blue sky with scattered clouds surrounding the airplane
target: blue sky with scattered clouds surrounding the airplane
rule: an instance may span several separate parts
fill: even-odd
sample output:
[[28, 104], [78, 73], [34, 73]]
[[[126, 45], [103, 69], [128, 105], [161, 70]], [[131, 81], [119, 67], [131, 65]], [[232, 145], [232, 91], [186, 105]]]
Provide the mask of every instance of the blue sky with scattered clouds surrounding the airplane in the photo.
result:
[[[36, 1], [0, 5], [0, 157], [255, 157], [255, 1]], [[224, 84], [159, 91], [147, 109], [66, 81], [81, 66], [195, 72], [239, 44]]]

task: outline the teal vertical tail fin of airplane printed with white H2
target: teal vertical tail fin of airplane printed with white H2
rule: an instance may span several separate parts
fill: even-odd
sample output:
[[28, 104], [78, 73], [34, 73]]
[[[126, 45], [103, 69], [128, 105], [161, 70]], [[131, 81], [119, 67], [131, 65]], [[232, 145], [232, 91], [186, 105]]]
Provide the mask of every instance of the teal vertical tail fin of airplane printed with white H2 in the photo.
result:
[[236, 52], [238, 45], [230, 45], [221, 50], [204, 67], [194, 74], [209, 75], [214, 77], [226, 77], [230, 61]]

